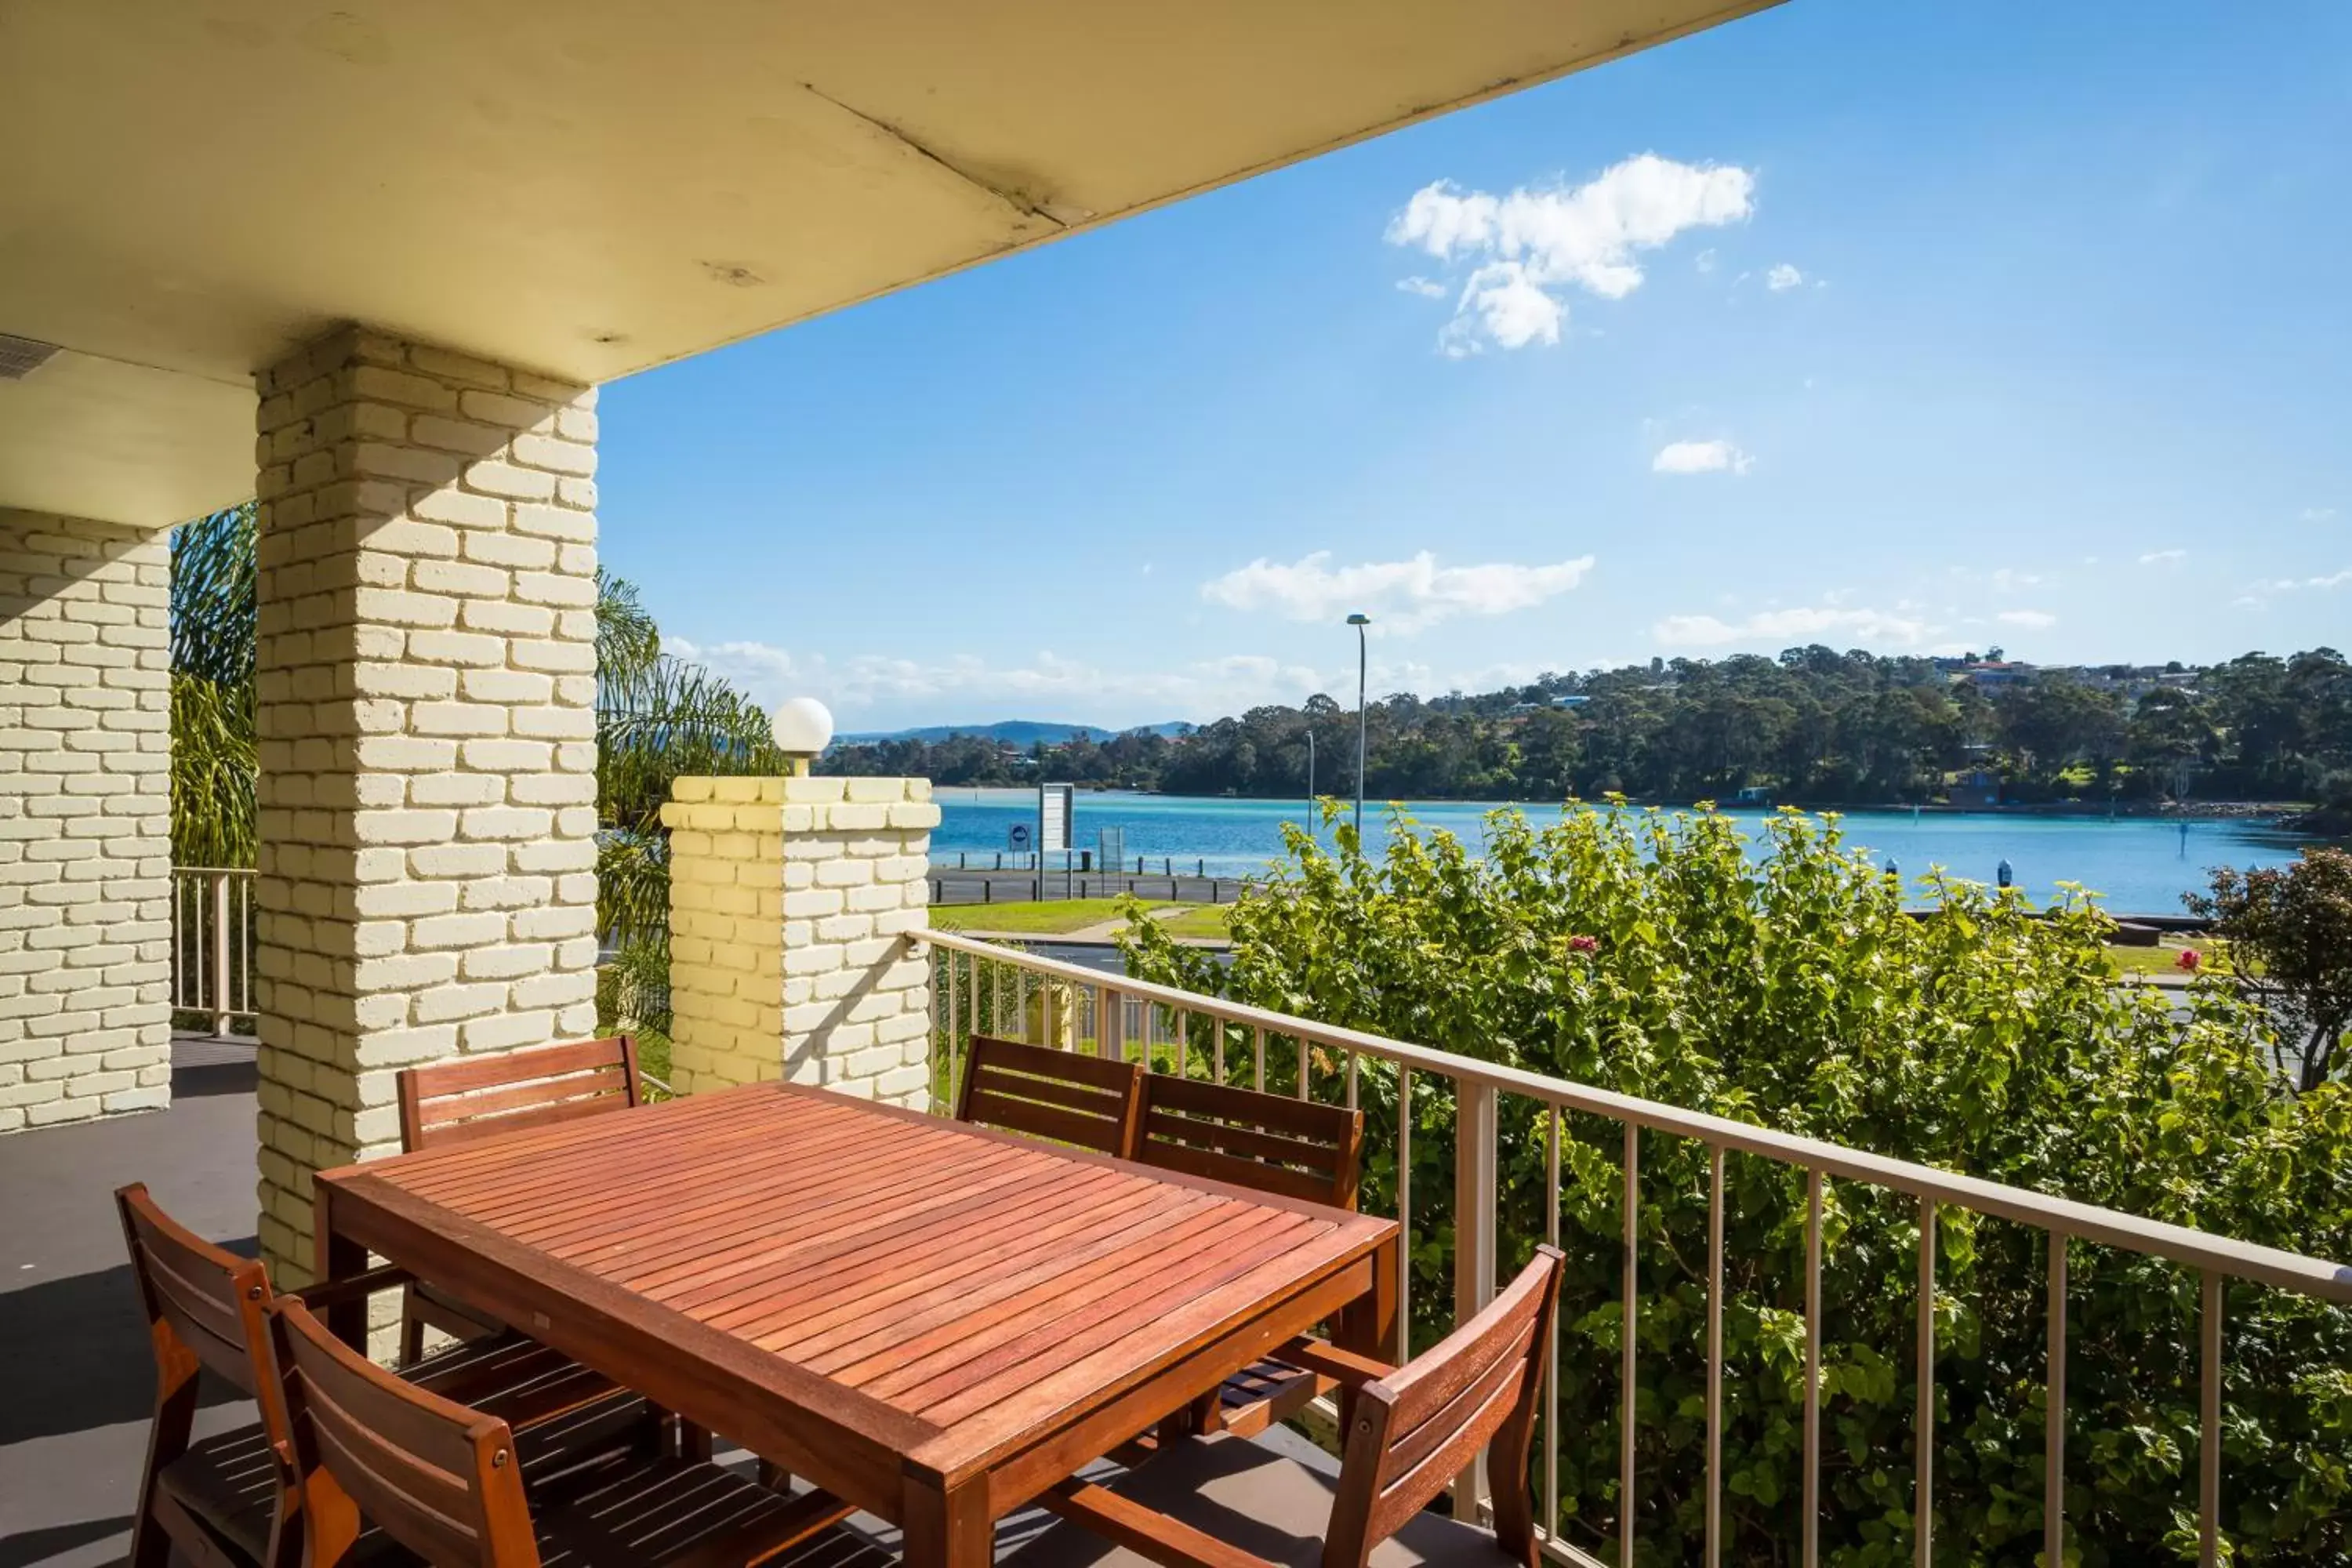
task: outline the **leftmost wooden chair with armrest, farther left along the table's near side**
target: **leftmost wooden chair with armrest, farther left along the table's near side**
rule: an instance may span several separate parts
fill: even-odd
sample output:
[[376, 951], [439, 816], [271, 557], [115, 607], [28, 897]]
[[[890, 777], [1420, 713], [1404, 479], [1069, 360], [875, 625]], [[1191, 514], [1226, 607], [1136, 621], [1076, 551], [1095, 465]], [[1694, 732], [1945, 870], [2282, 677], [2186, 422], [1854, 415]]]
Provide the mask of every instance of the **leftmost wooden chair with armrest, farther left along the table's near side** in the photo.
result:
[[[191, 1441], [198, 1382], [209, 1373], [259, 1399], [270, 1382], [268, 1272], [254, 1258], [205, 1241], [167, 1215], [139, 1182], [115, 1192], [132, 1279], [146, 1305], [155, 1349], [155, 1422], [132, 1521], [132, 1568], [165, 1568], [176, 1547], [198, 1568], [292, 1568], [299, 1561], [292, 1474], [275, 1403], [261, 1420]], [[343, 1302], [400, 1284], [397, 1269], [374, 1269], [301, 1300]], [[419, 1387], [501, 1410], [524, 1427], [529, 1462], [562, 1462], [644, 1425], [647, 1408], [616, 1396], [612, 1382], [534, 1345], [463, 1345], [407, 1371]]]

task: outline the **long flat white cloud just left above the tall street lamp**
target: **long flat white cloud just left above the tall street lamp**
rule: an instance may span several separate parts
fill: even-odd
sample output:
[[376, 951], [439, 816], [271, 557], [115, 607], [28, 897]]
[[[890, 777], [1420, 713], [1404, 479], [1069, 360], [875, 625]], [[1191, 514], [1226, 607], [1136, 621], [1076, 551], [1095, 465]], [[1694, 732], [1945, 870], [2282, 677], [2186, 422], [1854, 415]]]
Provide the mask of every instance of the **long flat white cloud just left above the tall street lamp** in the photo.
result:
[[1592, 571], [1581, 555], [1548, 567], [1494, 562], [1439, 567], [1428, 550], [1402, 562], [1334, 567], [1329, 550], [1296, 562], [1254, 559], [1200, 585], [1200, 597], [1225, 609], [1272, 611], [1291, 621], [1338, 621], [1364, 611], [1374, 628], [1416, 632], [1454, 616], [1508, 616], [1569, 592]]

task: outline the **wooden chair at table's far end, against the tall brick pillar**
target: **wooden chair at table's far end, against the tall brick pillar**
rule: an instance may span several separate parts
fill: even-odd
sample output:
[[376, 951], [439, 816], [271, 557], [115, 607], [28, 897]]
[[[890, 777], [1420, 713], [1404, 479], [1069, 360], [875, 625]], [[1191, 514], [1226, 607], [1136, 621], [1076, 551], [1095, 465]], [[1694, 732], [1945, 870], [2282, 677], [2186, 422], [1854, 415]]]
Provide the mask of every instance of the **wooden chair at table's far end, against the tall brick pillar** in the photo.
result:
[[[644, 1105], [637, 1041], [628, 1034], [405, 1067], [397, 1093], [400, 1147], [409, 1154]], [[414, 1281], [400, 1298], [402, 1363], [423, 1354], [426, 1328], [454, 1340], [510, 1333], [466, 1302]]]

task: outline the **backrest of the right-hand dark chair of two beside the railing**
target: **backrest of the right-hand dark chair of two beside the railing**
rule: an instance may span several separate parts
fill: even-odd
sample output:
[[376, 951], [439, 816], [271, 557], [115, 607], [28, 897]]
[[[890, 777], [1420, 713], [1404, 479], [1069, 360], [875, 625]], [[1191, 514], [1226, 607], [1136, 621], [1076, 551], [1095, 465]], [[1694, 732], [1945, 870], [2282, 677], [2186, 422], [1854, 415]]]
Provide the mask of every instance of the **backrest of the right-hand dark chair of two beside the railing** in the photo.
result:
[[1171, 1074], [1143, 1079], [1148, 1166], [1355, 1208], [1364, 1114]]

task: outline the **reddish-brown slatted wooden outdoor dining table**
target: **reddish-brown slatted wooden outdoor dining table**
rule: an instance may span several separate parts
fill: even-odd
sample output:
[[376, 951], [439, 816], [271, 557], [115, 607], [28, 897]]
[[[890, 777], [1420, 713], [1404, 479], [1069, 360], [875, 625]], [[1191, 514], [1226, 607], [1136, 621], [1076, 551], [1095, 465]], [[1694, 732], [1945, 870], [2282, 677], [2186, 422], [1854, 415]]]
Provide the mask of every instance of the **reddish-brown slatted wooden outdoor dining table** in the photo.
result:
[[318, 1237], [896, 1521], [910, 1568], [985, 1566], [1319, 1321], [1395, 1359], [1395, 1220], [786, 1084], [322, 1171]]

